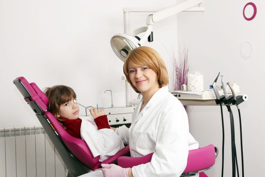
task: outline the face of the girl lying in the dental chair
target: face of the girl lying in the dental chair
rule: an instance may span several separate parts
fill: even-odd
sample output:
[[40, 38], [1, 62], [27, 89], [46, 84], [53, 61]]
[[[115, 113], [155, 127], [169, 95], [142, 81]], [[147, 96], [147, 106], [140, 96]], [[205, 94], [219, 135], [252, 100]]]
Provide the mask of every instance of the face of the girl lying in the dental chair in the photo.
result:
[[76, 99], [72, 99], [60, 106], [60, 115], [58, 117], [64, 117], [66, 119], [77, 119], [79, 117], [79, 105]]

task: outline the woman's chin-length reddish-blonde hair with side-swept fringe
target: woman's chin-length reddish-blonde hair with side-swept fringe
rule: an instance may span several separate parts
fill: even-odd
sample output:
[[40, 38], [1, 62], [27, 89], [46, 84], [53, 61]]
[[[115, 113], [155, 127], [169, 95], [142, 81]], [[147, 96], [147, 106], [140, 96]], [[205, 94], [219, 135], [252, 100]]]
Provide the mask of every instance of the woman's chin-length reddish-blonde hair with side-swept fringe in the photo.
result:
[[135, 92], [140, 93], [130, 80], [128, 70], [129, 61], [137, 65], [147, 66], [153, 70], [157, 74], [157, 83], [160, 88], [169, 84], [168, 70], [161, 56], [154, 49], [142, 46], [129, 52], [127, 60], [123, 65], [123, 72], [126, 79]]

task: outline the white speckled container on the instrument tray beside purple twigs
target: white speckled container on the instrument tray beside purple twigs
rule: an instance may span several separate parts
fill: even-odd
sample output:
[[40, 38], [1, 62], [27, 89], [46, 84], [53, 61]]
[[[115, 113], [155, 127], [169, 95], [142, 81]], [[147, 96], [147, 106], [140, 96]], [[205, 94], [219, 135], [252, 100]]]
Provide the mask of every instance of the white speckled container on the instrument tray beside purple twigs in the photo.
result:
[[188, 72], [188, 91], [190, 92], [201, 92], [203, 91], [203, 74], [198, 71]]

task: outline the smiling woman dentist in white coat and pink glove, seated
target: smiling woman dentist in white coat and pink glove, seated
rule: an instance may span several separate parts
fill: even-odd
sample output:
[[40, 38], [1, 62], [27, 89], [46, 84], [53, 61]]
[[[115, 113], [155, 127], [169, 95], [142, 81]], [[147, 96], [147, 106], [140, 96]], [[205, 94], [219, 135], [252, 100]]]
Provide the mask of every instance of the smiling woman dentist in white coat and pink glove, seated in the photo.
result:
[[132, 157], [153, 155], [150, 162], [132, 168], [102, 164], [104, 176], [180, 176], [188, 151], [197, 149], [198, 142], [189, 133], [183, 105], [169, 93], [165, 63], [155, 50], [139, 47], [129, 53], [123, 71], [142, 100], [132, 115], [130, 128], [123, 125], [115, 131], [124, 143], [129, 143]]

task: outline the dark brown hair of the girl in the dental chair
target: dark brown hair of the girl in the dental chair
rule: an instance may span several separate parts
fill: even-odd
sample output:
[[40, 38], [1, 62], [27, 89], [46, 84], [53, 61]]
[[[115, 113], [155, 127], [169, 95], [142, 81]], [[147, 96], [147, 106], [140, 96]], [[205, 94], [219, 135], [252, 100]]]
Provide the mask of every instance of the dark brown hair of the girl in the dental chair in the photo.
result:
[[[48, 97], [47, 111], [55, 115], [55, 117], [57, 117], [57, 114], [60, 114], [60, 106], [62, 104], [76, 98], [75, 91], [66, 85], [47, 87], [44, 93]], [[57, 119], [63, 121], [59, 117], [57, 117]]]

